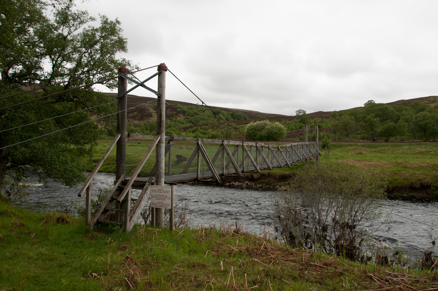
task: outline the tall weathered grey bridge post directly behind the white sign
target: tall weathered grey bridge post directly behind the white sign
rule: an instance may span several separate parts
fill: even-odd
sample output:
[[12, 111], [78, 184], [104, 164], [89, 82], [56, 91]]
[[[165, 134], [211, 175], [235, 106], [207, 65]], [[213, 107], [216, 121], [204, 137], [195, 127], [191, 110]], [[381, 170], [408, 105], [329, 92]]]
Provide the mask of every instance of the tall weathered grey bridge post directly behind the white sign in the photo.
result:
[[[164, 63], [158, 66], [158, 107], [157, 107], [157, 135], [161, 135], [157, 144], [157, 170], [155, 173], [155, 185], [164, 186], [165, 168], [165, 120], [166, 120], [166, 71]], [[164, 227], [164, 209], [155, 208], [155, 225]]]

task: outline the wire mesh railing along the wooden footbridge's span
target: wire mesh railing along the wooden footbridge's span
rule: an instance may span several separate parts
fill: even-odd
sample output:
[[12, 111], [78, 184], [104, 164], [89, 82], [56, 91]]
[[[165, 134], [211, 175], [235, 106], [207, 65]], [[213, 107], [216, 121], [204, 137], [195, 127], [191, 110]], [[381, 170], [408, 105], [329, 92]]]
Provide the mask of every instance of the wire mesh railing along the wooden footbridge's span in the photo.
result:
[[[127, 142], [126, 177], [132, 176], [137, 165], [145, 156], [152, 139], [132, 139]], [[219, 176], [235, 174], [233, 165], [237, 164], [241, 172], [255, 171], [257, 168], [284, 167], [294, 165], [321, 155], [314, 143], [289, 145], [251, 145], [251, 142], [225, 145], [230, 158], [220, 143], [201, 143], [196, 139], [190, 141], [167, 140], [165, 145], [164, 181], [184, 181], [205, 179], [214, 176], [209, 164]], [[208, 161], [200, 154], [199, 145], [203, 147]], [[245, 147], [245, 148], [244, 148]], [[140, 170], [138, 178], [155, 176], [156, 149]]]

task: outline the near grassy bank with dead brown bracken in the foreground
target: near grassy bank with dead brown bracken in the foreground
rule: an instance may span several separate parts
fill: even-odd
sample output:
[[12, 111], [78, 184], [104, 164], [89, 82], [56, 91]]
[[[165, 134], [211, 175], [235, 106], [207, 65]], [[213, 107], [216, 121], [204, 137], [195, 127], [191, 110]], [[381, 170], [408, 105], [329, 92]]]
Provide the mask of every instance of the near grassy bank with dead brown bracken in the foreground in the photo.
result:
[[435, 290], [436, 270], [362, 265], [236, 226], [92, 231], [0, 202], [0, 290]]

